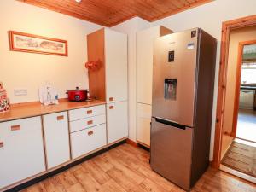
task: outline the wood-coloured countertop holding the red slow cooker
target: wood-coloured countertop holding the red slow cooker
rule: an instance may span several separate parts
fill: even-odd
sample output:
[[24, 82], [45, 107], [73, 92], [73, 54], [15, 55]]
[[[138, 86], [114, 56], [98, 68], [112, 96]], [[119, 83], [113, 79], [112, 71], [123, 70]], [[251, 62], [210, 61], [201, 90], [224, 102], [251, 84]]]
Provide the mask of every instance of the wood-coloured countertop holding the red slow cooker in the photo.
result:
[[0, 113], [0, 122], [29, 118], [49, 113], [57, 113], [76, 108], [88, 108], [91, 106], [102, 105], [105, 103], [106, 102], [100, 100], [92, 102], [68, 102], [67, 99], [60, 99], [58, 105], [49, 106], [44, 106], [40, 102], [26, 102], [14, 104], [11, 105], [11, 109], [8, 112]]

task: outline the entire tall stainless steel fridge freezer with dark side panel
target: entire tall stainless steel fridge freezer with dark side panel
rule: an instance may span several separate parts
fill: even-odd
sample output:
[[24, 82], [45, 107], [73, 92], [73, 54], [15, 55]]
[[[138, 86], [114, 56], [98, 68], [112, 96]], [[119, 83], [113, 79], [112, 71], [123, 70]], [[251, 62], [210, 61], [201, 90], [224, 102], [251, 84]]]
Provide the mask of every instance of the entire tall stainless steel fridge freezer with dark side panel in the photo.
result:
[[150, 165], [185, 190], [209, 165], [216, 48], [200, 28], [154, 43]]

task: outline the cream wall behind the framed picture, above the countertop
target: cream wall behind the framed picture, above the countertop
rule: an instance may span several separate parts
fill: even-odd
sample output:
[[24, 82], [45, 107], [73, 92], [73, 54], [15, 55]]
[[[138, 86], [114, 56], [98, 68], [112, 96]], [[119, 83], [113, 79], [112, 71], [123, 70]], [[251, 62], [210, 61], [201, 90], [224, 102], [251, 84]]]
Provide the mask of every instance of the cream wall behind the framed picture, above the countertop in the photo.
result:
[[[0, 1], [0, 23], [0, 81], [12, 103], [38, 101], [38, 87], [45, 81], [60, 97], [75, 86], [88, 88], [86, 34], [102, 26], [15, 0]], [[9, 51], [9, 30], [65, 39], [68, 57]], [[14, 96], [15, 88], [27, 89], [28, 95]]]

